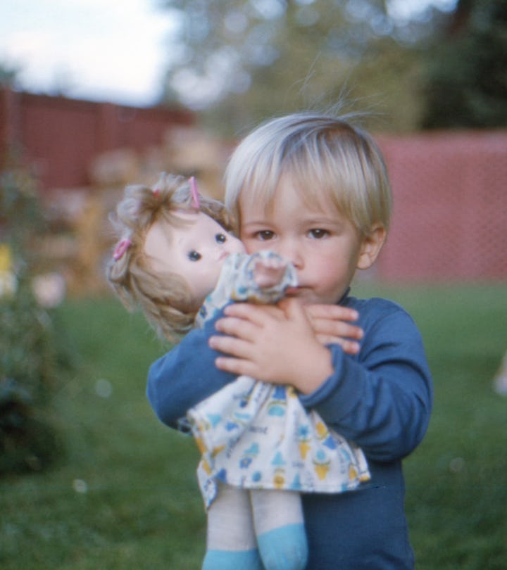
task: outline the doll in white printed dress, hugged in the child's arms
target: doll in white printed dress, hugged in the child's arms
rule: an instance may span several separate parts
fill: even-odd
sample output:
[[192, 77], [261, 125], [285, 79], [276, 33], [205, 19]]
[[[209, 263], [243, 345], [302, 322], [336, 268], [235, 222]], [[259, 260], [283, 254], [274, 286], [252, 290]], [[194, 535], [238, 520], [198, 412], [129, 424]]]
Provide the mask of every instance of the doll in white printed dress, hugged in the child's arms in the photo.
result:
[[[163, 175], [154, 190], [127, 186], [125, 194], [108, 279], [166, 337], [186, 331], [199, 307], [202, 328], [231, 299], [273, 303], [296, 286], [292, 265], [268, 251], [246, 255], [223, 227], [224, 208], [201, 200], [181, 178]], [[188, 370], [187, 383], [196, 380]], [[266, 569], [303, 569], [299, 491], [342, 493], [369, 477], [361, 450], [327, 431], [290, 387], [243, 376], [189, 410], [187, 419], [203, 452], [206, 569], [255, 570], [261, 558]]]

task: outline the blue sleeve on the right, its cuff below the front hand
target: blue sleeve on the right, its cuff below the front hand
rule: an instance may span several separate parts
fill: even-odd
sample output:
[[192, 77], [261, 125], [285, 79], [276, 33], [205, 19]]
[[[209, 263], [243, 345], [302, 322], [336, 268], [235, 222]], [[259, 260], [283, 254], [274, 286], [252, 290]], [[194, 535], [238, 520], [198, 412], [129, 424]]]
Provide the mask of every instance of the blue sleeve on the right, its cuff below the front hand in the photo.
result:
[[366, 311], [360, 319], [365, 336], [359, 355], [329, 346], [333, 374], [300, 400], [370, 459], [394, 461], [413, 451], [425, 435], [432, 380], [411, 317], [394, 303], [380, 304], [374, 315]]

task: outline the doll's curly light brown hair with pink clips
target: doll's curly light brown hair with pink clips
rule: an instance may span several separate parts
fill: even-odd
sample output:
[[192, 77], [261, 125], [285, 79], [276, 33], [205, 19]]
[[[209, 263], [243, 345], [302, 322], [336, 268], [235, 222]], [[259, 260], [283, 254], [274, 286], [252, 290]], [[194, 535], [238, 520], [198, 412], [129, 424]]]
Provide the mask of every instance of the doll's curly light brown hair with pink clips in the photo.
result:
[[[199, 203], [203, 213], [230, 231], [230, 216], [222, 203], [206, 196], [199, 196]], [[192, 305], [189, 286], [180, 275], [151, 270], [144, 241], [159, 220], [181, 224], [177, 210], [195, 210], [186, 178], [163, 172], [153, 188], [126, 186], [110, 216], [118, 243], [106, 267], [106, 277], [127, 310], [140, 308], [158, 336], [171, 342], [192, 328], [198, 308]]]

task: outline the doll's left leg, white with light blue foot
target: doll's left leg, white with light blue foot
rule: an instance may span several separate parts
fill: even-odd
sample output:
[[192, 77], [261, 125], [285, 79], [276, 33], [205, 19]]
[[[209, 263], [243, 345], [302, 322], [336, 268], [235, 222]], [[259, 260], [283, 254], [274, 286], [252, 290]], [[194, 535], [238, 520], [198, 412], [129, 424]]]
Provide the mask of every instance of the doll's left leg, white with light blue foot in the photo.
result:
[[263, 570], [248, 490], [220, 485], [208, 509], [203, 570]]

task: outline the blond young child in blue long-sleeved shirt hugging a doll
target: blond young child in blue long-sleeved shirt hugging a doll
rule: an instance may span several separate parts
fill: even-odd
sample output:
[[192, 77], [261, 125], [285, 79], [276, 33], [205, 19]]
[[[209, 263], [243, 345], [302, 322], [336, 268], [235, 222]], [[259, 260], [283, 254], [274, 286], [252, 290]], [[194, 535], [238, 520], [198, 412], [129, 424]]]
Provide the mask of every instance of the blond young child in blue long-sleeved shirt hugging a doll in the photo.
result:
[[[290, 260], [299, 286], [277, 307], [227, 305], [225, 318], [209, 322], [201, 338], [187, 336], [174, 355], [177, 366], [167, 356], [151, 366], [151, 405], [174, 426], [201, 399], [204, 381], [188, 386], [184, 398], [179, 393], [203, 336], [210, 348], [192, 371], [210, 376], [215, 363], [224, 376], [211, 374], [213, 391], [227, 384], [227, 374], [294, 386], [303, 406], [361, 446], [371, 474], [353, 493], [303, 494], [308, 569], [412, 569], [401, 461], [427, 429], [430, 371], [420, 334], [399, 305], [349, 295], [356, 270], [373, 265], [389, 229], [380, 151], [341, 118], [271, 120], [232, 154], [226, 205], [247, 251], [269, 249]], [[358, 312], [358, 353], [320, 343], [326, 335], [315, 334], [307, 315], [322, 315], [323, 305], [330, 315], [333, 305]]]

